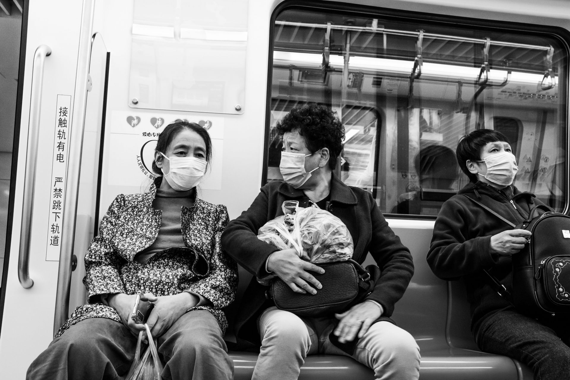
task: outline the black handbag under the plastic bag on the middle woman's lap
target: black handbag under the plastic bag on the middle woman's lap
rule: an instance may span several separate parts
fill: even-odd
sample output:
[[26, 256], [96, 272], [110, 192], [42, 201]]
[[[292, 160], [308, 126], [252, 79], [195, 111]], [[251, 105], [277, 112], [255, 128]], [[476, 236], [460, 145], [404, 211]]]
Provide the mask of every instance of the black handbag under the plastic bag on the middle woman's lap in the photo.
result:
[[376, 265], [365, 269], [352, 259], [317, 265], [325, 270], [323, 274], [312, 273], [323, 285], [317, 294], [296, 293], [283, 280], [275, 278], [266, 292], [267, 298], [280, 310], [302, 317], [320, 317], [343, 312], [363, 301], [372, 293], [374, 281], [380, 277]]

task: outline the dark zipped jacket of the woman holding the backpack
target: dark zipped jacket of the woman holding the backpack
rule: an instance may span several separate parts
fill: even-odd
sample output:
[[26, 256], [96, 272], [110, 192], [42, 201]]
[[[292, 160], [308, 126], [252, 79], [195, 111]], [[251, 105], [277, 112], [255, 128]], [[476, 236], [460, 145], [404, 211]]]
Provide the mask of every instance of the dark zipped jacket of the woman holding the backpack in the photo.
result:
[[443, 280], [463, 278], [471, 304], [471, 330], [477, 334], [485, 318], [498, 310], [514, 310], [494, 290], [491, 279], [483, 272], [483, 269], [489, 270], [511, 290], [511, 257], [491, 254], [490, 246], [491, 236], [513, 228], [462, 194], [515, 225], [528, 217], [532, 207], [543, 203], [535, 199], [534, 194], [520, 192], [514, 186], [498, 191], [482, 182], [467, 184], [443, 203], [435, 220], [427, 262], [433, 273]]

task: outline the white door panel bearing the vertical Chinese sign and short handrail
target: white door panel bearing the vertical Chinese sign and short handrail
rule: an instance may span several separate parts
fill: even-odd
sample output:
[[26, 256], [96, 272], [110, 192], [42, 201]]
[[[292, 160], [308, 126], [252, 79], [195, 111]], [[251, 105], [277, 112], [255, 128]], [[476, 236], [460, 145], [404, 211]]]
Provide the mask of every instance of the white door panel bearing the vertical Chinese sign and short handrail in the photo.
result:
[[[9, 263], [0, 305], [0, 377], [4, 379], [24, 378], [27, 367], [53, 338], [82, 9], [83, 2], [76, 0], [25, 2], [21, 45], [25, 66], [19, 73], [23, 87], [18, 99], [22, 112], [16, 125], [13, 217], [8, 221], [12, 232], [7, 238]], [[30, 171], [34, 160], [35, 171]], [[33, 189], [26, 200], [25, 187]], [[31, 224], [26, 232], [28, 218]], [[28, 261], [29, 276], [25, 268], [19, 270], [22, 247], [29, 258], [20, 257], [20, 264]]]

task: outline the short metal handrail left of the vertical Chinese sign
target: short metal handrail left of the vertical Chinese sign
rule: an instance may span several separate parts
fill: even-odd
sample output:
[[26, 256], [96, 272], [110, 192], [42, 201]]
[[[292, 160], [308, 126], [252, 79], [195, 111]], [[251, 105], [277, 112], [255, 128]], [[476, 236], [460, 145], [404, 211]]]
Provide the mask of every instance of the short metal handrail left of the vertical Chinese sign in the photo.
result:
[[51, 48], [40, 45], [34, 53], [32, 86], [30, 96], [30, 119], [28, 121], [28, 145], [26, 152], [26, 174], [24, 176], [24, 196], [22, 203], [22, 227], [18, 254], [18, 280], [24, 289], [34, 286], [30, 278], [30, 242], [32, 215], [34, 213], [35, 171], [38, 163], [39, 122], [42, 113], [43, 67]]

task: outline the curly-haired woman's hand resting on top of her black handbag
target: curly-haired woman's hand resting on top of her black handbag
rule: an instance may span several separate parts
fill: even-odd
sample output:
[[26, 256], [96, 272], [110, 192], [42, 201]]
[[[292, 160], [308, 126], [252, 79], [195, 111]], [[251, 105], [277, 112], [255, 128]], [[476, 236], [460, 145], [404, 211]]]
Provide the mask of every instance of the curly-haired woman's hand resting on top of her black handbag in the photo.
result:
[[274, 272], [297, 293], [316, 294], [317, 291], [310, 284], [317, 289], [323, 287], [307, 270], [322, 274], [324, 269], [299, 258], [295, 248], [277, 250], [271, 253], [267, 261], [267, 269]]

